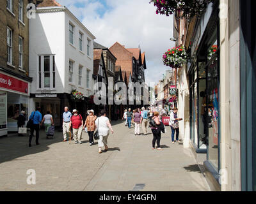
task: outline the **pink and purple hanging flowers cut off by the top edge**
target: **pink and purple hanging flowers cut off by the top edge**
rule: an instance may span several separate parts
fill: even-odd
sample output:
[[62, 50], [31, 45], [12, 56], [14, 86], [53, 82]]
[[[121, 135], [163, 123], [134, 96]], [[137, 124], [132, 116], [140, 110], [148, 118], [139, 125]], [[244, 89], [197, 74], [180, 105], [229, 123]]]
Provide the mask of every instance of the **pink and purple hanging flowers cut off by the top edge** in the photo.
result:
[[182, 17], [191, 20], [191, 18], [198, 15], [200, 17], [209, 3], [215, 0], [151, 0], [157, 7], [156, 14], [172, 15], [176, 11], [182, 11]]

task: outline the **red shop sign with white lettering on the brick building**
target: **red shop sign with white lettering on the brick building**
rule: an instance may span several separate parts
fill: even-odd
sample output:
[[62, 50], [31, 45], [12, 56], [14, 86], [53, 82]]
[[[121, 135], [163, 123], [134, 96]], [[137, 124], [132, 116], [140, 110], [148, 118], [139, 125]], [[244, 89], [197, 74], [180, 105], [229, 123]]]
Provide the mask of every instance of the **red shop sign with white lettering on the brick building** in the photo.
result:
[[0, 73], [0, 87], [28, 94], [28, 83]]

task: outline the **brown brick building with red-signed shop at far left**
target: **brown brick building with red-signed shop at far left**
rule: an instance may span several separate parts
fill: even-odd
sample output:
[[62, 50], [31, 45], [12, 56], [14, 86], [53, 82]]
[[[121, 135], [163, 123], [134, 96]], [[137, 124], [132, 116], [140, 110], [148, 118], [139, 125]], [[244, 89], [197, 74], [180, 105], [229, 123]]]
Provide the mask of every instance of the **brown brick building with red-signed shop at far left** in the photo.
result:
[[[27, 0], [1, 0], [0, 8], [0, 136], [17, 131], [22, 110], [28, 114], [29, 75]], [[27, 117], [28, 120], [28, 117]]]

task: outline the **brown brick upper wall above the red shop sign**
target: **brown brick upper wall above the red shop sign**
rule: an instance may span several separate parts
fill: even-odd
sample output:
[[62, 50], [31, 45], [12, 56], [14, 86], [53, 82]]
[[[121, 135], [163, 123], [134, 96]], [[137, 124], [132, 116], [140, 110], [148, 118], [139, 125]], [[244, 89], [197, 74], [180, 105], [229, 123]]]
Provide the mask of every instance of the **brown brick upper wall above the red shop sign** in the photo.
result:
[[[19, 75], [29, 75], [29, 19], [26, 16], [28, 0], [23, 1], [23, 22], [19, 22], [19, 1], [13, 1], [13, 14], [6, 9], [6, 0], [0, 0], [0, 66]], [[7, 65], [7, 27], [13, 31], [13, 66]], [[19, 36], [23, 38], [23, 69], [19, 70]]]

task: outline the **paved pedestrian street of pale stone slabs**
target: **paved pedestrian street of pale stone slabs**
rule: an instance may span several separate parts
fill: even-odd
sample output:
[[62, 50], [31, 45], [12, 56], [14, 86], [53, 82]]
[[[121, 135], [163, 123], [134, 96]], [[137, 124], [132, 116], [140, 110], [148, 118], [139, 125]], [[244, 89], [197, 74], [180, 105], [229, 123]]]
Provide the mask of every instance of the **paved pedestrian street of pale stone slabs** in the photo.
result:
[[[109, 151], [98, 153], [83, 144], [61, 142], [56, 132], [41, 145], [28, 148], [28, 136], [0, 138], [0, 191], [209, 191], [191, 150], [170, 142], [170, 128], [161, 139], [164, 150], [152, 150], [152, 133], [134, 136], [124, 122], [113, 122]], [[27, 170], [36, 171], [36, 184], [28, 185]]]

